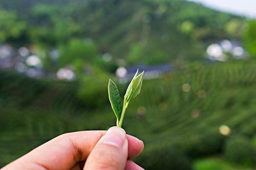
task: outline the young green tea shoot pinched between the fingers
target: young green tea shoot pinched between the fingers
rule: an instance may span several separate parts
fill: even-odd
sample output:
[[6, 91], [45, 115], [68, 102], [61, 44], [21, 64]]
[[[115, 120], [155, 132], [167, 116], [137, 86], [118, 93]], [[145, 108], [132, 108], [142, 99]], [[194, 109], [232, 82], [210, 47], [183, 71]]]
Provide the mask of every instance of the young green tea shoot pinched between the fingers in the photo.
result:
[[123, 104], [121, 102], [120, 94], [116, 84], [110, 79], [108, 85], [109, 99], [111, 107], [116, 115], [116, 126], [122, 127], [123, 117], [125, 110], [127, 109], [129, 103], [140, 93], [144, 71], [138, 75], [139, 70], [137, 70], [135, 76], [133, 77], [131, 83], [127, 87], [124, 95]]

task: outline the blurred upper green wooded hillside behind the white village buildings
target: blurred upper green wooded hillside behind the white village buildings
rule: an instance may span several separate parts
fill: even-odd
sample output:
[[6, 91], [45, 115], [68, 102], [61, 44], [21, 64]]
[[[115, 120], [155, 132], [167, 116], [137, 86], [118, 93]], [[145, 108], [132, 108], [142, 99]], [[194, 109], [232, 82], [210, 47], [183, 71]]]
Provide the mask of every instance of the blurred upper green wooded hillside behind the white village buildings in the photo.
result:
[[244, 22], [183, 0], [10, 0], [1, 6], [26, 26], [7, 42], [52, 48], [91, 38], [100, 53], [125, 58], [127, 64], [202, 60], [205, 42], [240, 39]]

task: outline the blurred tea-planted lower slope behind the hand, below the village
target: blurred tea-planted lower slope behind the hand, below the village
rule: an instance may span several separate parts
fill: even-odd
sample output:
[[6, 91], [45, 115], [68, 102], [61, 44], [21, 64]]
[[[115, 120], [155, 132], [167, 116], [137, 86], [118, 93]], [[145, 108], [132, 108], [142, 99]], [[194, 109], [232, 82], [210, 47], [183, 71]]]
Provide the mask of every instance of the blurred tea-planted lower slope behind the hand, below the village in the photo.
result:
[[[253, 60], [194, 63], [163, 79], [145, 80], [123, 123], [127, 133], [145, 143], [135, 161], [145, 169], [191, 169], [195, 160], [206, 156], [218, 159], [197, 161], [197, 169], [210, 169], [212, 164], [211, 169], [218, 169], [214, 167], [220, 167], [220, 159], [242, 167], [255, 165], [255, 69]], [[91, 101], [102, 100], [107, 83], [97, 85], [100, 95], [97, 90], [85, 95]], [[93, 109], [77, 97], [79, 82], [1, 72], [0, 84], [0, 166], [59, 134], [115, 125], [108, 100]], [[223, 125], [230, 134], [220, 133]], [[236, 149], [239, 146], [242, 150]]]

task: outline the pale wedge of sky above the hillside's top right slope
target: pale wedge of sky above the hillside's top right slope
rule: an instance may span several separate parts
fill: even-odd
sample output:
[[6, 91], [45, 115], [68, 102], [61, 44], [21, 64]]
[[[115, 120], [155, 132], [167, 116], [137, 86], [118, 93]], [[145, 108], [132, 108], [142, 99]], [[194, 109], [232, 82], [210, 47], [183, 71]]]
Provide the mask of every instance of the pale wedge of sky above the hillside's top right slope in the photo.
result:
[[256, 18], [256, 0], [188, 0], [220, 11]]

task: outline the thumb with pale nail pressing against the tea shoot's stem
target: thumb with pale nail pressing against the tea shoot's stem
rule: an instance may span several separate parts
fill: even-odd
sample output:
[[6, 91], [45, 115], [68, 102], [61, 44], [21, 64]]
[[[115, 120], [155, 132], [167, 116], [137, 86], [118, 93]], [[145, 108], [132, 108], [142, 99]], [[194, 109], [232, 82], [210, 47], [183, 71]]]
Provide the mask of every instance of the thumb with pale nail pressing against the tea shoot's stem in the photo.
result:
[[112, 127], [95, 145], [83, 169], [124, 169], [127, 155], [128, 141], [125, 131]]

